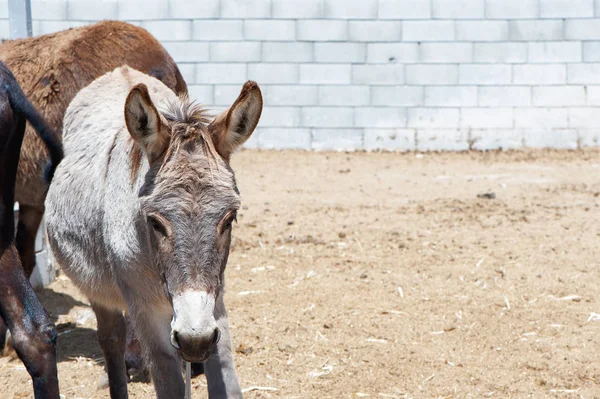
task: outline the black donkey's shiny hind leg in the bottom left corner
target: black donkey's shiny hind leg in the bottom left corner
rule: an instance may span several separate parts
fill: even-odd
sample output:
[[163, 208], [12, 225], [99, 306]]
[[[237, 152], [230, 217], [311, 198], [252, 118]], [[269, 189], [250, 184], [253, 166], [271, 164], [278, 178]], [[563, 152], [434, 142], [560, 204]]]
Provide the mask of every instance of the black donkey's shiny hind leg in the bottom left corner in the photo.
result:
[[58, 399], [56, 327], [38, 300], [11, 245], [0, 258], [0, 315], [33, 379], [36, 399]]

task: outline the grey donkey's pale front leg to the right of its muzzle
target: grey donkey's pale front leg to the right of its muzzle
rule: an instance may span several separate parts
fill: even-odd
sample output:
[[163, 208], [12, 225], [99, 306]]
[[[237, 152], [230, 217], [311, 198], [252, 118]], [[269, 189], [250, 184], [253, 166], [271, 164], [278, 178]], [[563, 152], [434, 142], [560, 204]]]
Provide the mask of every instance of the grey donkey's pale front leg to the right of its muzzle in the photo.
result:
[[231, 335], [229, 333], [229, 322], [227, 311], [223, 301], [223, 291], [219, 294], [215, 304], [215, 319], [221, 332], [221, 339], [217, 344], [216, 353], [204, 364], [206, 382], [208, 384], [208, 397], [210, 399], [220, 398], [243, 398], [240, 383], [238, 382], [233, 365], [233, 353], [231, 351]]

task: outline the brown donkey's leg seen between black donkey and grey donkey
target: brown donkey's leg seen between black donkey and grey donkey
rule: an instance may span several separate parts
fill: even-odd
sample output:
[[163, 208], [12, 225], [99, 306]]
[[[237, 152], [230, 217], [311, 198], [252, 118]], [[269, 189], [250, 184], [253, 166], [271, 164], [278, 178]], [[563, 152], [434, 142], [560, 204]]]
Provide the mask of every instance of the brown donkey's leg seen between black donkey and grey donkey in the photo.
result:
[[35, 236], [43, 216], [43, 207], [23, 205], [19, 208], [16, 245], [27, 278], [31, 277], [35, 267]]

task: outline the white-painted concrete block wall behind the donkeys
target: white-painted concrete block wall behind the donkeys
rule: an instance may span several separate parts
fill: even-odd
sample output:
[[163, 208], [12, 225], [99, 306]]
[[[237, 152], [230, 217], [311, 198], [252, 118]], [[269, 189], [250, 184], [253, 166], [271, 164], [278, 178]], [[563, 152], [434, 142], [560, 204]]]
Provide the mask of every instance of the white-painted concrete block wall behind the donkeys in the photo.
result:
[[600, 0], [31, 1], [35, 34], [145, 27], [216, 110], [258, 81], [265, 109], [248, 147], [599, 144]]

